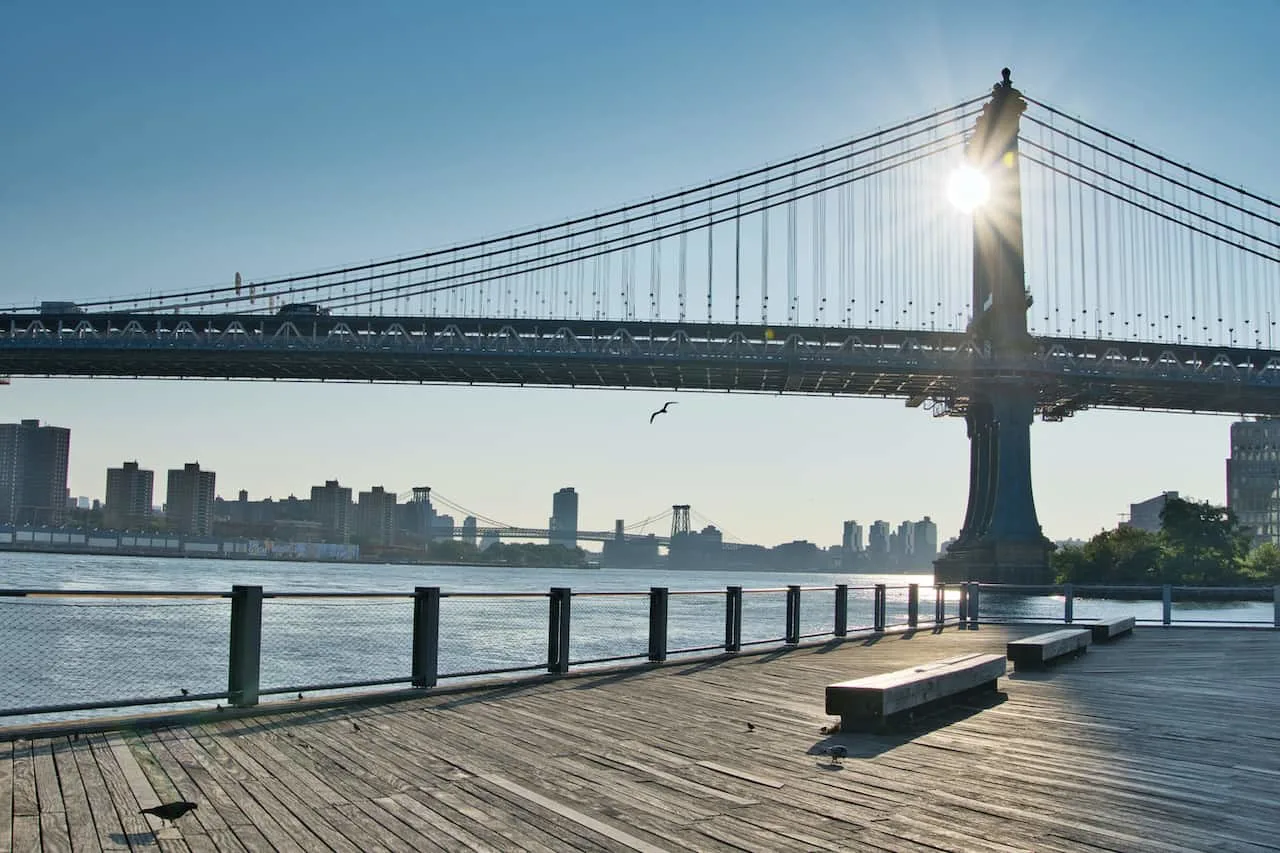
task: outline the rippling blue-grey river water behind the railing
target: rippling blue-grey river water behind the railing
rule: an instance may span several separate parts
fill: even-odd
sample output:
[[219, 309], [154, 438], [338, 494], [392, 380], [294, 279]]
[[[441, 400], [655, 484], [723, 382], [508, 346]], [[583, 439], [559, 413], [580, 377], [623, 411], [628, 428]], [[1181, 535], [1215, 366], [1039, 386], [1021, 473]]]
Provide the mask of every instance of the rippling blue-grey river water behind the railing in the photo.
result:
[[[668, 648], [703, 649], [723, 643], [724, 589], [744, 588], [742, 643], [781, 643], [788, 584], [801, 585], [801, 637], [833, 630], [835, 592], [849, 584], [849, 628], [869, 628], [873, 592], [888, 585], [888, 619], [906, 621], [906, 585], [920, 584], [920, 619], [932, 620], [929, 575], [836, 573], [742, 573], [653, 570], [556, 570], [484, 566], [262, 562], [78, 555], [0, 555], [0, 589], [150, 590], [212, 593], [197, 597], [13, 597], [0, 596], [0, 726], [38, 720], [99, 716], [118, 711], [13, 715], [17, 708], [90, 702], [128, 702], [227, 690], [233, 584], [261, 585], [264, 690], [294, 698], [301, 689], [340, 681], [404, 679], [411, 672], [415, 587], [439, 587], [442, 683], [458, 674], [503, 667], [539, 671], [547, 661], [548, 590], [573, 590], [570, 660], [636, 656], [648, 651], [650, 587], [671, 590]], [[759, 590], [759, 592], [755, 592]], [[344, 593], [394, 593], [388, 598], [343, 598]], [[291, 598], [330, 593], [332, 598]], [[449, 593], [456, 593], [449, 596]], [[484, 596], [468, 596], [484, 593]], [[511, 593], [495, 596], [494, 593]], [[534, 593], [530, 596], [530, 593]], [[613, 593], [596, 596], [591, 593]], [[635, 593], [635, 594], [618, 594]], [[524, 596], [521, 596], [524, 594]], [[1135, 615], [1158, 621], [1153, 601], [1076, 598], [1075, 619]], [[997, 596], [984, 590], [983, 619], [1062, 616], [1061, 596]], [[947, 615], [957, 612], [951, 590]], [[1226, 602], [1174, 605], [1175, 622], [1271, 624], [1272, 605]], [[675, 656], [675, 654], [673, 654]], [[475, 675], [467, 678], [477, 678]], [[214, 704], [215, 699], [195, 703]], [[173, 703], [146, 708], [183, 707]], [[192, 703], [186, 703], [192, 707]], [[137, 710], [137, 708], [132, 708]]]

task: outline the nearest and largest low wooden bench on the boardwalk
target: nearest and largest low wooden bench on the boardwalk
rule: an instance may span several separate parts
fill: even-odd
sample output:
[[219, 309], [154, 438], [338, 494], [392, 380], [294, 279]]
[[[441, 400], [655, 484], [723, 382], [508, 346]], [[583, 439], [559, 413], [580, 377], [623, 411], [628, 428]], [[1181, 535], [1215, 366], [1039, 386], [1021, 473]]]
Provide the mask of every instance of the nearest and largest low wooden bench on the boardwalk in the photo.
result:
[[841, 731], [874, 731], [947, 699], [995, 690], [1004, 654], [961, 654], [895, 672], [827, 685], [827, 713]]

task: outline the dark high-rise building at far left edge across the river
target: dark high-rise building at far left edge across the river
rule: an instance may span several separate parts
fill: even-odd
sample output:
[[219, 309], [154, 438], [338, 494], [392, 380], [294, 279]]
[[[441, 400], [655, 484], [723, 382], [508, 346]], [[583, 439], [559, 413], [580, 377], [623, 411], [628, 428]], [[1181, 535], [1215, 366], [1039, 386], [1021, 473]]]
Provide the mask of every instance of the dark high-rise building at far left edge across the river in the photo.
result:
[[29, 419], [0, 424], [0, 524], [60, 526], [67, 520], [72, 430]]

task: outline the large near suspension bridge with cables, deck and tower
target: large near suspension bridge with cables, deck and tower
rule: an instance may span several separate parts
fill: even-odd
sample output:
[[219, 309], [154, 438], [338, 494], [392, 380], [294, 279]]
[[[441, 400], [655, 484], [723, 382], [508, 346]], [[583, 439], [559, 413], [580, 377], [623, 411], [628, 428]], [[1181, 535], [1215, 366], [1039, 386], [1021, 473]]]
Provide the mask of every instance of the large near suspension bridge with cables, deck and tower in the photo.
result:
[[928, 115], [559, 223], [13, 305], [0, 373], [900, 398], [968, 425], [940, 579], [1039, 581], [1034, 416], [1280, 415], [1277, 323], [1280, 205], [1005, 69]]

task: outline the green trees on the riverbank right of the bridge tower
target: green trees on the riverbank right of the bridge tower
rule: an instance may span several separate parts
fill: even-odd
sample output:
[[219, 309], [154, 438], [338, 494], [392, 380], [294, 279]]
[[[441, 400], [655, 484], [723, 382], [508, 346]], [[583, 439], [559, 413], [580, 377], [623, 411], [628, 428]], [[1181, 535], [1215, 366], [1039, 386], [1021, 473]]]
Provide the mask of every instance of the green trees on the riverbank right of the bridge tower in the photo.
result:
[[1276, 583], [1280, 548], [1251, 551], [1252, 537], [1226, 507], [1170, 498], [1160, 533], [1103, 530], [1052, 556], [1059, 583], [1204, 584]]

